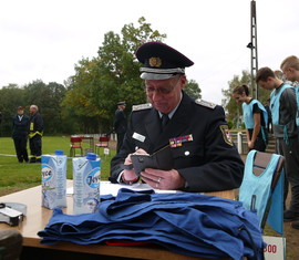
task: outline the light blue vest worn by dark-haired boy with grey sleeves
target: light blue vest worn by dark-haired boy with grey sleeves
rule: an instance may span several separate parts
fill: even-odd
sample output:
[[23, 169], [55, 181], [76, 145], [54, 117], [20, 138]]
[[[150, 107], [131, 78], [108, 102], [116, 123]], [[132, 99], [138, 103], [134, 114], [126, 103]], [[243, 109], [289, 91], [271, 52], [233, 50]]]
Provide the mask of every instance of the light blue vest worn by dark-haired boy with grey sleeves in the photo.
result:
[[272, 114], [272, 124], [274, 125], [277, 125], [277, 126], [280, 126], [283, 128], [283, 139], [286, 141], [286, 143], [288, 144], [289, 142], [289, 137], [288, 137], [288, 124], [286, 125], [280, 125], [279, 124], [279, 107], [280, 107], [280, 96], [282, 94], [282, 92], [286, 90], [286, 89], [293, 89], [292, 86], [288, 85], [288, 84], [283, 84], [279, 91], [276, 91], [274, 90], [271, 92], [271, 95], [270, 95], [270, 107], [271, 107], [271, 114]]

